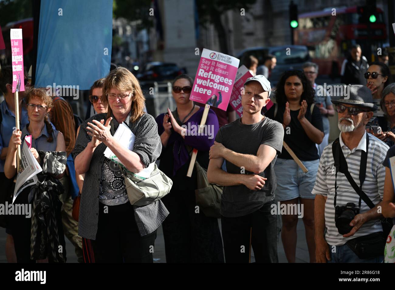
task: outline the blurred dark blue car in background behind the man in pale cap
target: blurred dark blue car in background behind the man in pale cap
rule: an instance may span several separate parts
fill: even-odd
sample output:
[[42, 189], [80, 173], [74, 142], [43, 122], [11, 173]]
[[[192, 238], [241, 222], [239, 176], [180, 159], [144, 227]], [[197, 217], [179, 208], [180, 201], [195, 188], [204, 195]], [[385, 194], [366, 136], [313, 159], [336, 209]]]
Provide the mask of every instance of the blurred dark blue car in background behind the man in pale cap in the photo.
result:
[[[287, 53], [289, 51], [289, 53]], [[307, 46], [304, 45], [283, 45], [283, 46], [272, 46], [272, 47], [251, 47], [241, 51], [237, 58], [240, 60], [240, 66], [246, 62], [248, 56], [253, 55], [258, 58], [258, 66], [263, 65], [263, 60], [267, 55], [274, 55], [277, 59], [276, 67], [271, 71], [269, 81], [272, 87], [274, 87], [279, 79], [280, 75], [286, 70], [301, 70], [302, 65], [310, 61], [310, 55], [308, 53]]]

